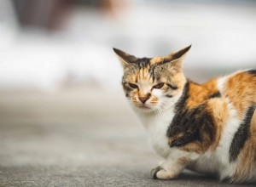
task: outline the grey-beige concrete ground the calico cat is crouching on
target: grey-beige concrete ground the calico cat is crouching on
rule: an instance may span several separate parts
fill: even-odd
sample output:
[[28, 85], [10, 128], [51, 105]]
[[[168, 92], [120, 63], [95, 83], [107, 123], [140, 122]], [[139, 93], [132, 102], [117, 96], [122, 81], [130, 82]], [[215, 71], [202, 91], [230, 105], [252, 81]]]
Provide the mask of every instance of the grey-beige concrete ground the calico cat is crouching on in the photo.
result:
[[158, 161], [121, 90], [0, 93], [0, 186], [238, 186], [154, 180]]

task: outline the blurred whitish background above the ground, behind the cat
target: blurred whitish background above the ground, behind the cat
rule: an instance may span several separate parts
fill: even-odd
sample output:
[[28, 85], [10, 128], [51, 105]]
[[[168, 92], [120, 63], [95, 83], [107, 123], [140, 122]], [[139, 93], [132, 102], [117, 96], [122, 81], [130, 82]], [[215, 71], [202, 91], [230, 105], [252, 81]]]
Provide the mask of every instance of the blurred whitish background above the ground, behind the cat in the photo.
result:
[[[192, 3], [194, 2], [194, 3]], [[256, 66], [253, 1], [0, 1], [0, 88], [119, 87], [112, 48], [138, 57], [192, 43], [189, 78]]]

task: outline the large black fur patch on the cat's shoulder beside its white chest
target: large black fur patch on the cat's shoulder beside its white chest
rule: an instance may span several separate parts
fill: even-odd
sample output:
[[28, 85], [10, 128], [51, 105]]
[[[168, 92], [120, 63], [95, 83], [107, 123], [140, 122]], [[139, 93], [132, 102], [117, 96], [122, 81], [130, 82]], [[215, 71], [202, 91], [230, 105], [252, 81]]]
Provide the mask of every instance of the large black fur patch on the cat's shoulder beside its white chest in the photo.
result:
[[178, 100], [175, 107], [175, 116], [167, 130], [167, 137], [175, 137], [177, 134], [183, 134], [181, 137], [173, 140], [170, 146], [183, 146], [191, 142], [204, 141], [204, 135], [208, 135], [211, 140], [214, 139], [215, 129], [212, 116], [207, 113], [206, 104], [198, 105], [192, 109], [186, 108], [189, 98], [189, 82], [183, 89], [183, 95]]

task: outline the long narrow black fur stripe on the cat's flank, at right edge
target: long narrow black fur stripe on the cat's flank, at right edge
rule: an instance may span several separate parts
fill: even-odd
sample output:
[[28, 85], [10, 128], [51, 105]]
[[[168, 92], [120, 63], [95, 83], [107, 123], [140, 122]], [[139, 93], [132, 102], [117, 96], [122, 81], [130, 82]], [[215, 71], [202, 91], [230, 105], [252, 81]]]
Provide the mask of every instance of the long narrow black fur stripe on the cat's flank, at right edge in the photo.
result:
[[253, 112], [255, 111], [256, 105], [252, 105], [248, 108], [246, 116], [241, 123], [240, 127], [237, 129], [235, 136], [230, 145], [230, 161], [236, 161], [241, 149], [246, 143], [250, 136], [250, 123], [253, 117]]

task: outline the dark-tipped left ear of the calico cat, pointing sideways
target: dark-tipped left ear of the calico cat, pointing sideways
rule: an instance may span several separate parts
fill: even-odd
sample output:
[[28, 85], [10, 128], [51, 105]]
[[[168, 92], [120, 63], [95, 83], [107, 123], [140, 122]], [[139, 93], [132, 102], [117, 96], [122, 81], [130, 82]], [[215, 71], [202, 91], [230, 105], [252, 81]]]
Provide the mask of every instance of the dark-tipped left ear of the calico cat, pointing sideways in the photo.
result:
[[131, 54], [127, 54], [124, 51], [121, 51], [121, 50], [119, 50], [117, 48], [113, 48], [113, 51], [119, 57], [119, 60], [122, 63], [124, 69], [128, 68], [129, 66], [131, 66], [132, 63], [136, 63], [137, 62], [137, 57], [135, 57], [135, 56], [133, 56]]

